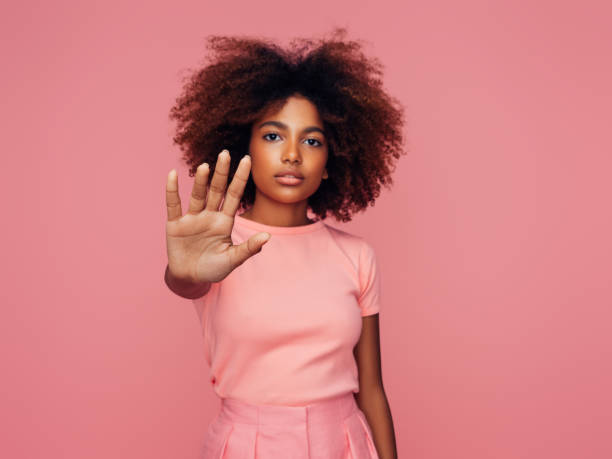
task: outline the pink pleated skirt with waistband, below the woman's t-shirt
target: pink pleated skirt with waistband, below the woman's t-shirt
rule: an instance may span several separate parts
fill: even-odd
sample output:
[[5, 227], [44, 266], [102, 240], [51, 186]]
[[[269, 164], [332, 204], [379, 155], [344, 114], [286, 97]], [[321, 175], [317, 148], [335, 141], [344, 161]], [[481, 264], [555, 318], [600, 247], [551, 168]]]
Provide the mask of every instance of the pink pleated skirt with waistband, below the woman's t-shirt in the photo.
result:
[[201, 459], [378, 459], [352, 392], [306, 406], [222, 398]]

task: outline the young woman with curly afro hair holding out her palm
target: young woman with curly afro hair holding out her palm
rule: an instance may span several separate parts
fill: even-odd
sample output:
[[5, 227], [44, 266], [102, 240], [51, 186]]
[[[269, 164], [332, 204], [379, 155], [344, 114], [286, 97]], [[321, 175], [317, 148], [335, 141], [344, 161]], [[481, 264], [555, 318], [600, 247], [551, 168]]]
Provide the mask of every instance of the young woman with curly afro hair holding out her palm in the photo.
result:
[[392, 183], [403, 110], [345, 33], [209, 38], [172, 108], [195, 182], [183, 215], [167, 178], [165, 281], [193, 300], [221, 398], [202, 458], [397, 457], [375, 253], [324, 219]]

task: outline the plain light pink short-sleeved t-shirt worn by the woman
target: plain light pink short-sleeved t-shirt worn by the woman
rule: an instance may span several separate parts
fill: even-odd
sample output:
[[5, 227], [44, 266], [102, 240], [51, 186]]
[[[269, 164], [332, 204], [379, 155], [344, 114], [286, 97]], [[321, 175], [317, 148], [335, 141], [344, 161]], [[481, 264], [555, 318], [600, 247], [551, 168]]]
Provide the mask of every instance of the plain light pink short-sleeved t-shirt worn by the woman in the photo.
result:
[[240, 215], [232, 241], [272, 235], [206, 295], [192, 300], [210, 381], [220, 397], [303, 406], [359, 391], [353, 348], [380, 306], [372, 247], [322, 220], [269, 226]]

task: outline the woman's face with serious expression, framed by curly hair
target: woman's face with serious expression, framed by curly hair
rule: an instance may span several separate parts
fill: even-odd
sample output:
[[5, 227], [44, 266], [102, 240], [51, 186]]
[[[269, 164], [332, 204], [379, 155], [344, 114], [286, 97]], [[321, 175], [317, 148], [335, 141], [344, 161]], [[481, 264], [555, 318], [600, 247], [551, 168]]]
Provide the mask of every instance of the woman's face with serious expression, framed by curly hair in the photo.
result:
[[[316, 106], [300, 95], [289, 97], [279, 111], [253, 123], [249, 150], [256, 193], [265, 195], [266, 200], [284, 204], [304, 201], [328, 177], [323, 122]], [[285, 171], [303, 178], [280, 178]]]

